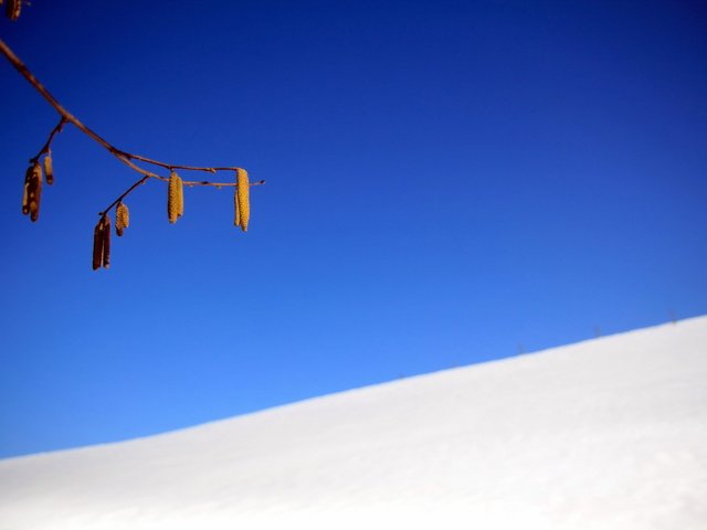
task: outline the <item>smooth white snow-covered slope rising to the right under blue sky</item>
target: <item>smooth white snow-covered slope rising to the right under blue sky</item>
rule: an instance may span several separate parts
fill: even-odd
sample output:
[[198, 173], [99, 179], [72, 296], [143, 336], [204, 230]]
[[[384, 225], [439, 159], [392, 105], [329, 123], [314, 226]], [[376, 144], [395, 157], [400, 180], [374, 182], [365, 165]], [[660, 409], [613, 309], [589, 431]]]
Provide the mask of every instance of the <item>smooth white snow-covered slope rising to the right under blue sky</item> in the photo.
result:
[[0, 460], [0, 530], [707, 529], [707, 317]]

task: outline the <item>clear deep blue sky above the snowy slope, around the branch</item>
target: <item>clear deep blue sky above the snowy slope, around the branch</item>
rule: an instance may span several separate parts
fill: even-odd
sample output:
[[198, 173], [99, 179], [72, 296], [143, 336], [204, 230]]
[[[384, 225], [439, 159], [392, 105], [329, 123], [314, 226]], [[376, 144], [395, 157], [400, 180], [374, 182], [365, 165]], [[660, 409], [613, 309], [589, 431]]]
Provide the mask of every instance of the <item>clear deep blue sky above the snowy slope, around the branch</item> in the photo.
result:
[[[241, 166], [127, 200], [0, 61], [0, 456], [125, 439], [707, 312], [699, 1], [33, 1], [0, 36], [122, 149]], [[230, 178], [230, 176], [224, 176]]]

